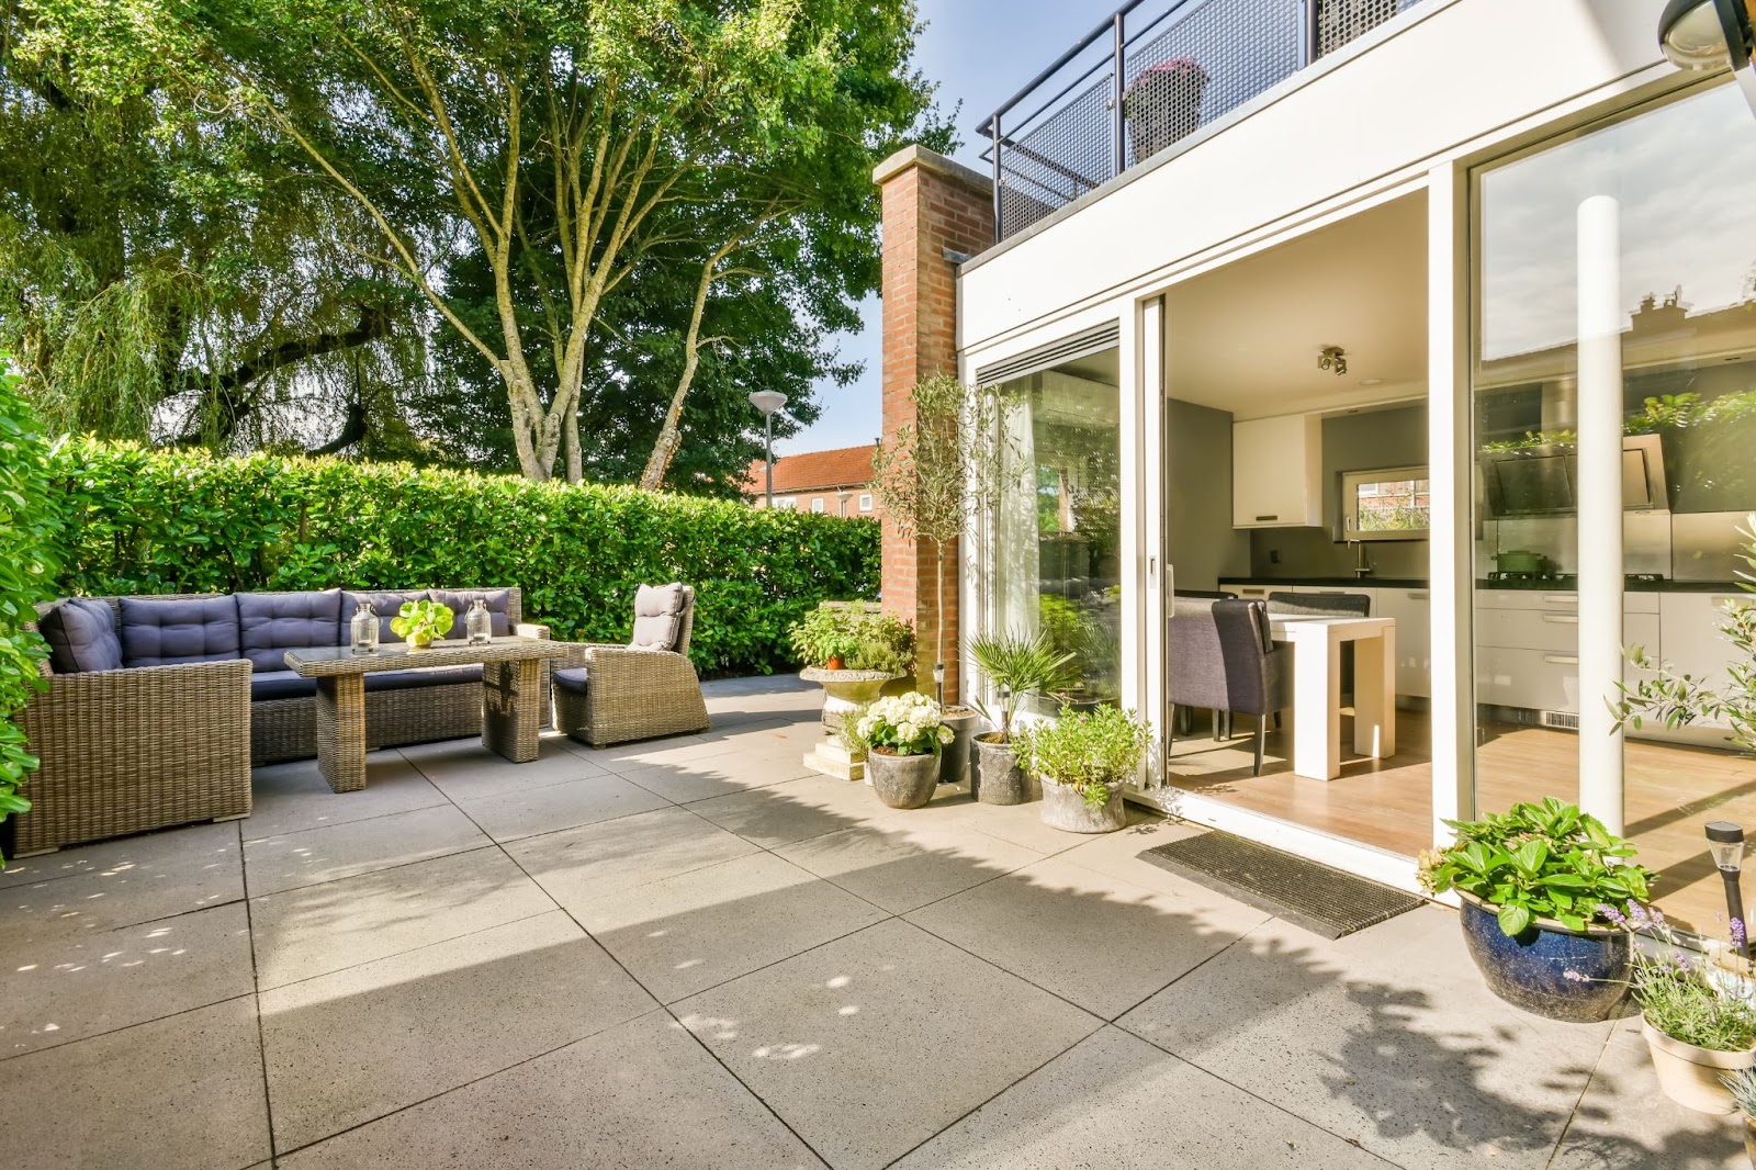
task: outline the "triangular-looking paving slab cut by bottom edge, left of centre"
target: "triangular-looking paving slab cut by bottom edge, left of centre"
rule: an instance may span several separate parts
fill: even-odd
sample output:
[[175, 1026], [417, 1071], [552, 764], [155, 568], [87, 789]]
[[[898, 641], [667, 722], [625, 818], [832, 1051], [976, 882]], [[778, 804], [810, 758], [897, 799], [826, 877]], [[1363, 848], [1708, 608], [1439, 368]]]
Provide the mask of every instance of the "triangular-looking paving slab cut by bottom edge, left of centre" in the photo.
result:
[[811, 1170], [787, 1126], [664, 1012], [309, 1149], [283, 1170]]

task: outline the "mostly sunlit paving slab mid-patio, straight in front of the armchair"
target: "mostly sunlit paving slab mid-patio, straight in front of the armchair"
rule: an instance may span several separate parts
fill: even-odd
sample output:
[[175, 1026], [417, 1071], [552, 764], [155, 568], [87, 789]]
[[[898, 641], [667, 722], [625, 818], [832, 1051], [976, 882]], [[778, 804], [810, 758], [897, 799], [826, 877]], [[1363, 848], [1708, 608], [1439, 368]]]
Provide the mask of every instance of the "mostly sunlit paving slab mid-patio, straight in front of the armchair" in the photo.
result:
[[748, 857], [755, 845], [687, 808], [527, 836], [506, 852], [562, 906]]

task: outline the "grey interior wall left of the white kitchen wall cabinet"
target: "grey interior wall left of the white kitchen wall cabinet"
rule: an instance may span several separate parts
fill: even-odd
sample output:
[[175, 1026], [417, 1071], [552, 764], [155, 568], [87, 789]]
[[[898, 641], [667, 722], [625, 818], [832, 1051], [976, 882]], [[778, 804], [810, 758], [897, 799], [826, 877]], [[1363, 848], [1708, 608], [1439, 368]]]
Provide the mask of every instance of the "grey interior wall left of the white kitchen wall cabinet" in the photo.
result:
[[1231, 527], [1231, 413], [1171, 399], [1166, 427], [1164, 557], [1177, 589], [1215, 589], [1250, 564]]

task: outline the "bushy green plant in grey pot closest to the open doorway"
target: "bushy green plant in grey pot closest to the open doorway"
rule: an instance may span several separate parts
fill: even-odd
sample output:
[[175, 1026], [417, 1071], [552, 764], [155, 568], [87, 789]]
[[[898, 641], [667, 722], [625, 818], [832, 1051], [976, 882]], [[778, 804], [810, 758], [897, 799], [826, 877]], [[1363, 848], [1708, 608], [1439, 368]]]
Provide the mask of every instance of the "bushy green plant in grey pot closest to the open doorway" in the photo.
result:
[[1108, 703], [1018, 733], [1018, 759], [1043, 782], [1043, 824], [1068, 833], [1115, 833], [1127, 824], [1122, 785], [1145, 754], [1147, 726]]

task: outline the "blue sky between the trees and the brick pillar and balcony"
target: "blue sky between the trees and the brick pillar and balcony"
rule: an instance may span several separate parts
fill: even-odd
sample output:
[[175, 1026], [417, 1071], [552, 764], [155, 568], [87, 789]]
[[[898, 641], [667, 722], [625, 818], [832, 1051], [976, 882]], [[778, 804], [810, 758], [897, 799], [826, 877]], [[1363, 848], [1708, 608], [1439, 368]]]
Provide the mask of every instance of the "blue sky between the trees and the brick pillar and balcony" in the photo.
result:
[[[918, 0], [927, 21], [915, 51], [920, 70], [939, 83], [939, 107], [962, 102], [957, 134], [964, 144], [959, 162], [982, 169], [983, 139], [971, 126], [1010, 98], [1045, 65], [1115, 11], [1115, 0]], [[878, 437], [880, 392], [880, 306], [867, 300], [860, 316], [866, 329], [838, 337], [845, 358], [864, 362], [866, 371], [848, 386], [822, 385], [817, 397], [824, 416], [790, 439], [774, 443], [776, 453], [820, 451], [859, 446]]]

